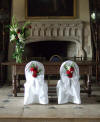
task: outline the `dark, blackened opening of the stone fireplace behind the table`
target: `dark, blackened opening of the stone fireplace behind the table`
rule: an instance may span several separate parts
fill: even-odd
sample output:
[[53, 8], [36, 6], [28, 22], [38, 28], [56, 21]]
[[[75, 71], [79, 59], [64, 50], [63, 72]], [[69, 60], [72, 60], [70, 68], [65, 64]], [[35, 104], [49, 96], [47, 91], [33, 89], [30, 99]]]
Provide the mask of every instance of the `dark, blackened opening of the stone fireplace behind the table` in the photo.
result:
[[53, 55], [62, 58], [76, 56], [76, 43], [70, 41], [38, 41], [25, 44], [24, 58], [44, 57], [49, 60]]

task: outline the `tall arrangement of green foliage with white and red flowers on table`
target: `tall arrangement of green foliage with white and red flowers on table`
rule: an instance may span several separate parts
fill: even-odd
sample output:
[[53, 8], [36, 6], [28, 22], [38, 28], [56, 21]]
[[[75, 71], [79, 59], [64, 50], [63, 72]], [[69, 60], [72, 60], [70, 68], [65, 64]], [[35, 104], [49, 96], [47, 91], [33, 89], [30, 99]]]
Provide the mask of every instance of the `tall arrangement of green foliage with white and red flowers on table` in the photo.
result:
[[15, 17], [12, 17], [10, 28], [10, 42], [15, 43], [15, 52], [12, 57], [16, 63], [22, 63], [25, 41], [30, 35], [31, 23], [25, 22], [22, 26], [18, 24]]

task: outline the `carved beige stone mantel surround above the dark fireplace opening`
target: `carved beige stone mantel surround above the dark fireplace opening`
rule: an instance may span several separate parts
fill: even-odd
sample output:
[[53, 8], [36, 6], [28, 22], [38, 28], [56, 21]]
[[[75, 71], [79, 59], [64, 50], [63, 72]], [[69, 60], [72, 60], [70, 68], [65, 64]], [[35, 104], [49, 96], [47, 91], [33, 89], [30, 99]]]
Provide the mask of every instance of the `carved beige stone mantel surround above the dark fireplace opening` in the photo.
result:
[[40, 41], [70, 41], [76, 44], [76, 56], [84, 57], [82, 21], [33, 21], [27, 43]]

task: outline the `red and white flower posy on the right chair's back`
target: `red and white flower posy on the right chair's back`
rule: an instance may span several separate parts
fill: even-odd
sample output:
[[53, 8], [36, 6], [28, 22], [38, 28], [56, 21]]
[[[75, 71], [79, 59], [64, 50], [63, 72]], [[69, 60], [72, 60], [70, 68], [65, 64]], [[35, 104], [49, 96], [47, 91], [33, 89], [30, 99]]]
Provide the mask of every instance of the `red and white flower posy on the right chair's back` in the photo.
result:
[[64, 68], [66, 70], [66, 74], [69, 78], [73, 77], [73, 72], [74, 72], [74, 64], [71, 65], [64, 65]]

